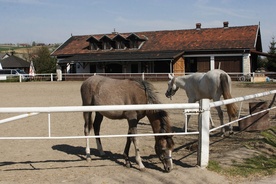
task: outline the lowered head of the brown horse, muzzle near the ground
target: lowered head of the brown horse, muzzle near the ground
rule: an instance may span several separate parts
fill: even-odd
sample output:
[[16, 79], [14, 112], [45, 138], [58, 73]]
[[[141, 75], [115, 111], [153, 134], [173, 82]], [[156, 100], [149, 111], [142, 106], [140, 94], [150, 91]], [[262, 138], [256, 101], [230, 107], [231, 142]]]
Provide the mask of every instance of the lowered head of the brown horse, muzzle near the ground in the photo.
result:
[[172, 136], [157, 136], [155, 143], [155, 152], [164, 166], [166, 172], [173, 169], [172, 151], [174, 142]]

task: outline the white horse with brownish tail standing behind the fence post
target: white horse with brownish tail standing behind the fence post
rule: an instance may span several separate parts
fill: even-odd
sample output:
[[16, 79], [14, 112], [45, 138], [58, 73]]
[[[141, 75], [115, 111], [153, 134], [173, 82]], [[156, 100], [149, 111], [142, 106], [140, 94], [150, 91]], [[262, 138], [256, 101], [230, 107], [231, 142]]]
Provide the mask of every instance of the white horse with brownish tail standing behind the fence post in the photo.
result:
[[[166, 97], [171, 98], [179, 88], [186, 91], [188, 102], [195, 103], [203, 98], [213, 99], [213, 101], [220, 100], [221, 95], [224, 99], [232, 98], [231, 96], [231, 78], [223, 70], [214, 69], [207, 73], [194, 73], [191, 75], [174, 77], [169, 74], [170, 81], [168, 82], [168, 89]], [[235, 104], [228, 104], [227, 113], [229, 121], [231, 118], [237, 116], [237, 107]], [[223, 125], [223, 112], [220, 106], [216, 107], [221, 125]], [[190, 115], [187, 116], [187, 126]], [[212, 126], [214, 124], [212, 123]], [[185, 125], [184, 125], [185, 128]], [[230, 126], [230, 131], [232, 127]], [[225, 133], [225, 129], [222, 129]]]

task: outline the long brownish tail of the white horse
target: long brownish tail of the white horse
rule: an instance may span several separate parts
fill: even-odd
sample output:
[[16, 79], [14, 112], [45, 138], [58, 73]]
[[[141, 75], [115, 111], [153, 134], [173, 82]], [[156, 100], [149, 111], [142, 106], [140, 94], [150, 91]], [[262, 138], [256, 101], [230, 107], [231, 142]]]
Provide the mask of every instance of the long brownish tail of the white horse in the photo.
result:
[[[221, 83], [221, 88], [222, 88], [222, 95], [224, 99], [229, 99], [232, 98], [232, 95], [230, 93], [230, 81], [228, 80], [228, 75], [226, 73], [220, 74], [220, 83]], [[234, 103], [227, 104], [227, 113], [229, 116], [232, 118], [237, 117], [237, 106]]]

